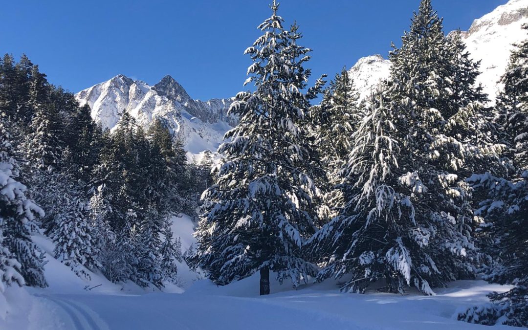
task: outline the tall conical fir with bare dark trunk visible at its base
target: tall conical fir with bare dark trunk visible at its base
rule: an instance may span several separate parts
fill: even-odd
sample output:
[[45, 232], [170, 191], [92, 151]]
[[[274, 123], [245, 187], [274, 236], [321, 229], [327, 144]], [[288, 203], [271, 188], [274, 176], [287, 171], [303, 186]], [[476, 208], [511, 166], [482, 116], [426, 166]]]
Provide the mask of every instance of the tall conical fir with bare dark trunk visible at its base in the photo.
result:
[[312, 173], [314, 152], [300, 128], [310, 99], [310, 51], [297, 44], [294, 25], [282, 27], [278, 4], [259, 29], [263, 34], [245, 53], [254, 92], [240, 92], [230, 113], [240, 123], [219, 147], [224, 156], [214, 184], [202, 195], [203, 206], [194, 254], [197, 265], [218, 284], [228, 284], [260, 270], [260, 293], [269, 294], [269, 271], [294, 287], [316, 274], [301, 249], [315, 231], [313, 198], [319, 194]]

